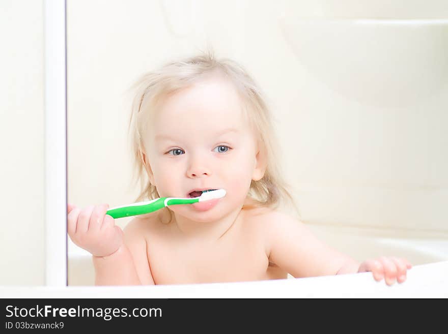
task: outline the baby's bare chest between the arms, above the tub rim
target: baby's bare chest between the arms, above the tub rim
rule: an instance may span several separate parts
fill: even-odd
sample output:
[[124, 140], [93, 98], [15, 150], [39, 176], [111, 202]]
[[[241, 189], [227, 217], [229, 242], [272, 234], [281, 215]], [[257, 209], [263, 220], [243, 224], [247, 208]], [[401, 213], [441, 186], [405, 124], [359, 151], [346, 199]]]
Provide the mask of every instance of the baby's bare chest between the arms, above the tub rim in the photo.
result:
[[269, 264], [263, 246], [248, 240], [188, 247], [153, 242], [148, 259], [156, 284], [260, 280]]

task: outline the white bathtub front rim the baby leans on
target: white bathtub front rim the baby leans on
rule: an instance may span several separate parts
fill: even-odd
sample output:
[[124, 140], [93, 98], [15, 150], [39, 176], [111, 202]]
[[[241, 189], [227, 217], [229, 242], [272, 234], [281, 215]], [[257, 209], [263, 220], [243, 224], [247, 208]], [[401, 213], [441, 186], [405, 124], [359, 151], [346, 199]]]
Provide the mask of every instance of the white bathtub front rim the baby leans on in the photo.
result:
[[370, 272], [317, 278], [194, 285], [0, 287], [3, 298], [446, 298], [448, 261], [417, 265], [403, 284]]

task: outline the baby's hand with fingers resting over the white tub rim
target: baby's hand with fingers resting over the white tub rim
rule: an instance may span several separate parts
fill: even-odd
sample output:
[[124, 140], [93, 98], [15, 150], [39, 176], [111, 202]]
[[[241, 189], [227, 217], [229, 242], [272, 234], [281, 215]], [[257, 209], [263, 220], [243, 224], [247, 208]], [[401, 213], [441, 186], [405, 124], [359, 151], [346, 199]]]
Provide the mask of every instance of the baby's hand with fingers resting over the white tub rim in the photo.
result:
[[372, 271], [375, 281], [381, 281], [384, 278], [387, 285], [393, 285], [395, 280], [403, 283], [406, 280], [406, 270], [410, 268], [412, 265], [406, 259], [382, 256], [362, 262], [358, 272]]

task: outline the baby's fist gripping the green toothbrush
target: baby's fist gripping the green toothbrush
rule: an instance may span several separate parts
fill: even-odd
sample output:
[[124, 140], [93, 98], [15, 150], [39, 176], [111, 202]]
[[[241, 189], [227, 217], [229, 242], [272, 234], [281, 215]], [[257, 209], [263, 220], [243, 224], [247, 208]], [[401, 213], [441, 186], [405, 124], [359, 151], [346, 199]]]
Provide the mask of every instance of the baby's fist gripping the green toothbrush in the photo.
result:
[[94, 256], [115, 253], [123, 244], [123, 231], [106, 215], [108, 204], [80, 208], [67, 205], [67, 232], [75, 245]]

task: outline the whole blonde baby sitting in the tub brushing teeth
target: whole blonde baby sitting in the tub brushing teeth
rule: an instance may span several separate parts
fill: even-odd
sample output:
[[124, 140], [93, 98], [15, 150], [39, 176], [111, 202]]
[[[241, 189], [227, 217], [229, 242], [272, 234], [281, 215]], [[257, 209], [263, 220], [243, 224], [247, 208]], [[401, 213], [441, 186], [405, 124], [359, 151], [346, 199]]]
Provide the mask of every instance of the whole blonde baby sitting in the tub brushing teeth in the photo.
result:
[[96, 285], [286, 279], [371, 271], [387, 285], [410, 263], [358, 263], [279, 209], [292, 201], [259, 88], [241, 66], [206, 54], [167, 64], [134, 87], [130, 131], [142, 181], [136, 201], [227, 195], [135, 216], [124, 231], [107, 204], [68, 205], [68, 234], [93, 255]]

